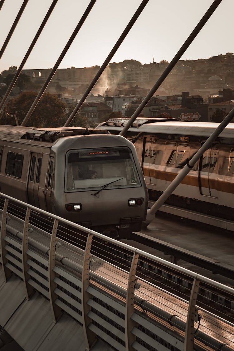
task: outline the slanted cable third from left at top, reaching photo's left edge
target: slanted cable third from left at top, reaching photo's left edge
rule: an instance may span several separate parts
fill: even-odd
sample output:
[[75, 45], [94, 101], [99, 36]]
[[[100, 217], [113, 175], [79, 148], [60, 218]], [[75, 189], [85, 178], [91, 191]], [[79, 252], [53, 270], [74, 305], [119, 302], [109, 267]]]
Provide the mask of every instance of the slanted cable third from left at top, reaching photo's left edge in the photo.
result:
[[4, 95], [4, 97], [2, 98], [2, 101], [1, 101], [1, 104], [0, 104], [0, 110], [1, 110], [1, 108], [3, 107], [3, 105], [5, 104], [5, 101], [6, 101], [6, 99], [8, 98], [9, 94], [11, 93], [12, 88], [13, 88], [13, 86], [15, 85], [16, 80], [19, 78], [19, 75], [20, 75], [20, 73], [21, 73], [21, 71], [22, 71], [22, 68], [24, 67], [25, 62], [27, 61], [27, 59], [28, 59], [30, 53], [32, 52], [32, 49], [33, 49], [34, 45], [36, 44], [36, 41], [38, 40], [38, 38], [39, 38], [39, 36], [40, 36], [40, 34], [41, 34], [41, 32], [42, 32], [42, 29], [45, 27], [46, 22], [47, 22], [49, 16], [51, 15], [51, 13], [52, 13], [52, 11], [53, 11], [53, 9], [54, 9], [54, 7], [55, 7], [55, 5], [56, 5], [57, 2], [58, 2], [58, 0], [54, 0], [54, 1], [52, 2], [51, 7], [49, 8], [47, 14], [45, 15], [45, 18], [44, 18], [44, 20], [42, 21], [42, 23], [41, 23], [41, 25], [40, 25], [40, 27], [39, 27], [39, 29], [38, 29], [38, 31], [37, 31], [37, 33], [36, 33], [36, 35], [35, 35], [33, 41], [32, 41], [32, 44], [29, 46], [28, 51], [27, 51], [27, 53], [26, 53], [24, 59], [22, 60], [22, 62], [21, 62], [21, 64], [20, 64], [19, 68], [18, 68], [18, 71], [15, 73], [15, 75], [14, 75], [14, 77], [13, 77], [13, 79], [12, 79], [10, 85], [9, 85], [8, 88], [7, 88], [7, 91], [6, 91], [5, 95]]

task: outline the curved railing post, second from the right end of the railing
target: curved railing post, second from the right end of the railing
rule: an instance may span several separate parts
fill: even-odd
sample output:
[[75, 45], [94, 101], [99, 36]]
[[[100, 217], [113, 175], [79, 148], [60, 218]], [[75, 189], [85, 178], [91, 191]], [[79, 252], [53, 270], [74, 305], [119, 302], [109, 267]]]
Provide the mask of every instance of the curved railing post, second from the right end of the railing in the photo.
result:
[[134, 291], [136, 285], [136, 267], [138, 263], [139, 254], [133, 254], [132, 264], [128, 277], [128, 288], [126, 296], [126, 313], [125, 313], [125, 348], [128, 351], [133, 351], [131, 346], [135, 340], [135, 336], [131, 333], [135, 323], [131, 320], [134, 312]]

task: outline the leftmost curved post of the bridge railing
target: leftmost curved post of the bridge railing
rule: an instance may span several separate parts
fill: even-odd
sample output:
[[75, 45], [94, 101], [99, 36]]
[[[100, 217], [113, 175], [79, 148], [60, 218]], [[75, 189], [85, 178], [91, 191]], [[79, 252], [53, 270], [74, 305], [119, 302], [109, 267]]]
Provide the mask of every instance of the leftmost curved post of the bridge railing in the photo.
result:
[[5, 198], [5, 203], [2, 211], [2, 223], [1, 223], [1, 233], [0, 233], [0, 255], [1, 255], [1, 264], [2, 270], [4, 273], [4, 280], [7, 282], [9, 277], [11, 276], [11, 270], [6, 267], [7, 259], [5, 255], [7, 250], [5, 249], [5, 236], [6, 236], [6, 225], [7, 225], [7, 206], [8, 206], [9, 199]]

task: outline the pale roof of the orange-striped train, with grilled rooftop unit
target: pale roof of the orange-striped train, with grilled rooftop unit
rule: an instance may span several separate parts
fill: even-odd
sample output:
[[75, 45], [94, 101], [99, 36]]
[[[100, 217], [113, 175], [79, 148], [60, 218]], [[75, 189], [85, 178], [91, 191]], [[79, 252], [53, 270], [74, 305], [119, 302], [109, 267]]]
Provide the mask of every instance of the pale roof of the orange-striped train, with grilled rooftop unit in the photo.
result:
[[[105, 130], [121, 131], [129, 119], [113, 119], [108, 120], [98, 126]], [[142, 118], [135, 120], [134, 124], [129, 128], [130, 132], [144, 132], [149, 134], [163, 133], [163, 134], [181, 134], [181, 135], [195, 135], [200, 137], [209, 137], [220, 125], [220, 123], [213, 122], [184, 122], [178, 120], [147, 119], [142, 121]], [[234, 138], [234, 123], [229, 123], [227, 127], [220, 133], [220, 137]]]

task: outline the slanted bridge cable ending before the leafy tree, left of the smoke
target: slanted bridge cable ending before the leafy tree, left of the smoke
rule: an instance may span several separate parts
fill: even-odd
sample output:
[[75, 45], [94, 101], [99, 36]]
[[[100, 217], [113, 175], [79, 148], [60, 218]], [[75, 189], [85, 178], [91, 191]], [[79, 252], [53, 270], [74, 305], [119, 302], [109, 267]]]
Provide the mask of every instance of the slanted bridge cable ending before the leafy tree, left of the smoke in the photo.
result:
[[24, 120], [22, 121], [21, 126], [25, 126], [26, 123], [27, 123], [27, 121], [28, 121], [29, 118], [31, 117], [33, 111], [35, 110], [35, 108], [36, 108], [36, 106], [37, 106], [37, 104], [38, 104], [38, 102], [40, 101], [42, 95], [44, 94], [44, 92], [45, 92], [45, 90], [46, 90], [46, 88], [47, 88], [47, 86], [49, 85], [49, 82], [50, 82], [51, 79], [54, 77], [54, 74], [55, 74], [57, 68], [59, 67], [59, 65], [60, 65], [60, 63], [61, 63], [61, 61], [62, 61], [62, 59], [64, 58], [65, 54], [67, 53], [67, 51], [68, 51], [69, 47], [71, 46], [73, 40], [75, 39], [76, 34], [79, 32], [80, 28], [82, 27], [83, 23], [85, 22], [85, 20], [86, 20], [88, 14], [89, 14], [89, 12], [91, 11], [93, 5], [95, 4], [95, 2], [96, 2], [96, 0], [91, 0], [91, 1], [89, 2], [88, 7], [86, 8], [84, 14], [82, 15], [82, 17], [81, 17], [81, 19], [80, 19], [78, 25], [75, 27], [74, 32], [72, 33], [72, 35], [71, 35], [70, 39], [68, 40], [68, 42], [67, 42], [65, 48], [63, 49], [61, 55], [59, 56], [57, 62], [55, 63], [55, 65], [54, 65], [54, 67], [53, 67], [51, 73], [48, 75], [48, 77], [47, 77], [45, 83], [43, 84], [41, 90], [39, 91], [37, 97], [36, 97], [35, 100], [33, 101], [32, 106], [29, 108], [29, 111], [28, 111], [28, 113], [26, 114]]

